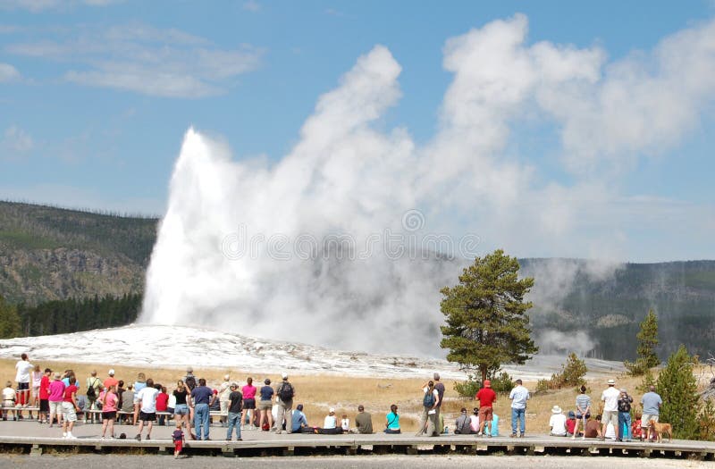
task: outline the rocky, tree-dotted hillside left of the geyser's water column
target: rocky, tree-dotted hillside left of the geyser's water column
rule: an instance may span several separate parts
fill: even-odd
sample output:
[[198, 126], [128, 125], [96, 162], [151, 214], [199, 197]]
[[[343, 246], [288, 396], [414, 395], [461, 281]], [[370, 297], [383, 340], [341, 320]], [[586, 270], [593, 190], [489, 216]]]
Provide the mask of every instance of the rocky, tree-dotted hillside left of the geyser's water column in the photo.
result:
[[0, 202], [0, 295], [36, 305], [144, 287], [153, 218]]

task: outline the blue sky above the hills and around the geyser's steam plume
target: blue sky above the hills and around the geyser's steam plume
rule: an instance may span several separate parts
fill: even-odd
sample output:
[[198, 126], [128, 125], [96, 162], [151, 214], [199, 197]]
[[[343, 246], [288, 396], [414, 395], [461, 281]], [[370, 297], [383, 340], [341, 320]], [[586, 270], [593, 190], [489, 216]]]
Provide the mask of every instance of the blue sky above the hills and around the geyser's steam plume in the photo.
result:
[[[709, 1], [645, 8], [637, 2], [0, 0], [0, 197], [163, 214], [189, 126], [227, 142], [238, 161], [265, 155], [277, 162], [299, 142], [319, 96], [378, 44], [402, 67], [402, 97], [374, 125], [404, 127], [416, 144], [427, 144], [453, 80], [442, 64], [446, 41], [515, 13], [528, 19], [527, 46], [597, 48], [606, 68], [712, 21], [715, 8]], [[619, 214], [636, 222], [619, 230], [627, 241], [613, 255], [715, 257], [711, 88], [697, 96], [702, 103], [694, 121], [660, 151], [635, 147], [609, 181], [618, 188], [614, 201], [643, 201], [644, 211], [653, 203], [660, 210], [658, 201], [676, 207], [648, 212], [650, 224]], [[534, 168], [536, 186], [572, 188], [585, 180], [559, 156], [559, 125], [536, 115], [511, 127], [508, 153]], [[652, 227], [669, 222], [673, 210], [683, 229], [653, 235]], [[677, 242], [686, 247], [669, 248]], [[542, 246], [519, 247], [517, 254], [593, 252]]]

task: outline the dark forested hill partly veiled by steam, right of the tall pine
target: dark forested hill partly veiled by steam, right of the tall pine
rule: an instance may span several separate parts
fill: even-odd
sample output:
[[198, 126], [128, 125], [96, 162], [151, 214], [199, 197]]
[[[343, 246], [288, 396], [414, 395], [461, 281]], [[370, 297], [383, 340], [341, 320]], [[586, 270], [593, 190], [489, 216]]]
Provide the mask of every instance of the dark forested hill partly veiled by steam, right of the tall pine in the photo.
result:
[[[620, 264], [605, 270], [574, 259], [523, 259], [520, 264], [536, 284], [534, 331], [551, 337], [542, 340], [543, 351], [579, 349], [590, 340], [590, 356], [635, 358], [635, 334], [652, 309], [660, 324], [661, 358], [680, 344], [693, 354], [715, 355], [715, 261]], [[559, 288], [544, 288], [564, 277], [568, 281]], [[549, 336], [547, 331], [566, 334]]]

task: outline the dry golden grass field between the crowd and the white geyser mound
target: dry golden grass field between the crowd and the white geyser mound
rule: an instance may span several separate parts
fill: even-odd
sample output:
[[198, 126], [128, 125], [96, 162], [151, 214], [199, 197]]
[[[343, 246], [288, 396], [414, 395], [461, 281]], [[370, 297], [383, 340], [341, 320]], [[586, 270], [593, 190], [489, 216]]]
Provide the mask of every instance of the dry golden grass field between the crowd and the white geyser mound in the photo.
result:
[[[31, 359], [31, 356], [30, 356]], [[0, 360], [0, 383], [14, 380], [14, 364], [16, 360]], [[134, 382], [138, 373], [145, 373], [147, 378], [152, 378], [155, 382], [164, 384], [170, 391], [174, 389], [175, 381], [185, 375], [185, 370], [176, 368], [139, 368], [122, 365], [107, 364], [71, 364], [66, 362], [33, 362], [39, 364], [44, 370], [49, 367], [53, 370], [63, 372], [72, 369], [80, 378], [82, 388], [85, 388], [87, 377], [92, 370], [97, 370], [97, 376], [104, 380], [106, 372], [110, 367], [114, 368], [117, 379]], [[263, 382], [265, 378], [270, 378], [273, 383], [280, 381], [281, 377], [275, 374], [244, 373], [238, 369], [201, 368], [194, 367], [194, 374], [198, 378], [205, 378], [208, 385], [217, 388], [223, 381], [224, 374], [230, 374], [232, 381], [245, 383], [248, 376], [252, 376], [254, 381]], [[302, 403], [305, 406], [308, 423], [315, 426], [322, 426], [324, 416], [327, 415], [330, 407], [335, 407], [337, 414], [347, 414], [352, 422], [357, 413], [357, 405], [362, 404], [366, 411], [373, 415], [375, 431], [383, 429], [384, 415], [389, 411], [391, 404], [399, 407], [400, 423], [403, 431], [415, 431], [419, 414], [422, 410], [421, 385], [429, 379], [386, 379], [386, 378], [365, 378], [335, 375], [291, 375], [290, 382], [296, 388], [296, 404]], [[626, 388], [634, 396], [635, 402], [640, 402], [641, 394], [635, 391], [635, 387], [640, 384], [640, 378], [627, 376], [614, 376], [617, 380], [618, 388]], [[708, 378], [709, 379], [709, 378]], [[602, 382], [601, 382], [602, 381]], [[588, 393], [593, 399], [596, 409], [600, 409], [601, 390], [605, 389], [606, 378], [588, 383]], [[704, 382], [704, 380], [702, 380]], [[447, 388], [442, 414], [445, 417], [445, 424], [454, 428], [454, 419], [459, 415], [461, 407], [467, 407], [471, 411], [476, 406], [474, 399], [459, 398], [454, 390], [453, 381], [444, 381]], [[535, 382], [525, 382], [528, 389], [534, 389]], [[14, 386], [14, 382], [13, 382]], [[526, 409], [526, 431], [534, 433], [548, 433], [549, 417], [551, 407], [558, 405], [565, 412], [574, 408], [576, 398], [575, 389], [560, 389], [548, 394], [534, 396]], [[637, 405], [635, 408], [639, 408]], [[508, 434], [510, 431], [510, 407], [509, 398], [499, 396], [494, 406], [494, 413], [501, 418], [500, 432]]]

